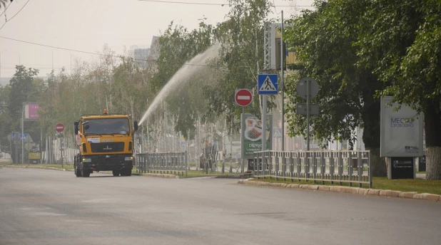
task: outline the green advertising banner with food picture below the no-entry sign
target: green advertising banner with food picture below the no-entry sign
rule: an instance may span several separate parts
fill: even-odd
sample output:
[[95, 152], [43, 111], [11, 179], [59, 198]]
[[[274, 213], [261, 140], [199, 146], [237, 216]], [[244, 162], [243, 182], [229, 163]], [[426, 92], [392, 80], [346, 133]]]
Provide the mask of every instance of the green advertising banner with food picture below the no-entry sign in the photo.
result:
[[[266, 150], [273, 150], [273, 115], [266, 115]], [[245, 135], [243, 146], [245, 147], [244, 159], [252, 159], [254, 152], [262, 150], [262, 121], [252, 114], [245, 114]]]

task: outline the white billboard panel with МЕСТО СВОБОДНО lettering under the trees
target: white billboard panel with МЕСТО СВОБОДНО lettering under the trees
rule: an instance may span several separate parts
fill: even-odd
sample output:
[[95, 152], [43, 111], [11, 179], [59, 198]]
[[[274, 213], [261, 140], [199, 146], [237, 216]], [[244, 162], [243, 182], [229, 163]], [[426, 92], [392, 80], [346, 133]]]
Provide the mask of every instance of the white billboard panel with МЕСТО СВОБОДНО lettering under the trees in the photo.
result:
[[381, 157], [422, 157], [422, 114], [417, 115], [406, 105], [392, 103], [391, 96], [381, 99], [380, 156]]

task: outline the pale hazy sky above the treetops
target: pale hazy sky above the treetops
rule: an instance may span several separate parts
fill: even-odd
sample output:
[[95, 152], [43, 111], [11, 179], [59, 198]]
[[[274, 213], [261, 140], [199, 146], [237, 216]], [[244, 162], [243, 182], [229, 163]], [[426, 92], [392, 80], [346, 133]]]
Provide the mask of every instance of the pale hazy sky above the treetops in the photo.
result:
[[[122, 54], [124, 47], [150, 46], [152, 36], [159, 36], [171, 21], [191, 30], [197, 28], [199, 19], [204, 17], [208, 24], [222, 22], [229, 10], [227, 0], [159, 1], [227, 5], [138, 0], [15, 0], [6, 10], [10, 21], [5, 24], [4, 14], [0, 16], [0, 27], [5, 24], [0, 29], [1, 77], [14, 75], [15, 65], [19, 62], [26, 67], [38, 68], [39, 75], [44, 76], [52, 66], [56, 71], [66, 67], [69, 73], [71, 57], [73, 67], [78, 59], [91, 61], [98, 57], [1, 37], [93, 53], [101, 51], [107, 43], [113, 51]], [[305, 9], [308, 7], [304, 6], [311, 6], [313, 0], [274, 0], [274, 3], [276, 8], [272, 10], [279, 14], [273, 13], [270, 18], [280, 18], [283, 10], [287, 19], [298, 13], [293, 6]], [[0, 14], [3, 11], [4, 8], [0, 9]]]

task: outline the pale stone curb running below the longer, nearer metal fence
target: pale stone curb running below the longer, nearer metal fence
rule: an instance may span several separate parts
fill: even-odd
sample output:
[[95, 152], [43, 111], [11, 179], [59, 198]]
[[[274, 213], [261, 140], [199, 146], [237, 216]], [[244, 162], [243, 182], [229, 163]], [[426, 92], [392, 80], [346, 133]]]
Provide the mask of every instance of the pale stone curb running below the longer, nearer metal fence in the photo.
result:
[[316, 184], [286, 184], [286, 183], [268, 183], [263, 181], [250, 181], [250, 179], [240, 179], [238, 184], [244, 184], [249, 186], [262, 186], [262, 187], [281, 187], [292, 189], [310, 189], [320, 190], [325, 192], [338, 192], [348, 194], [360, 194], [365, 196], [378, 196], [378, 197], [398, 197], [407, 199], [420, 199], [432, 202], [441, 202], [441, 195], [430, 193], [417, 193], [417, 192], [400, 192], [392, 191], [390, 189], [365, 189], [358, 187], [340, 187], [340, 186], [328, 186], [328, 185], [316, 185]]

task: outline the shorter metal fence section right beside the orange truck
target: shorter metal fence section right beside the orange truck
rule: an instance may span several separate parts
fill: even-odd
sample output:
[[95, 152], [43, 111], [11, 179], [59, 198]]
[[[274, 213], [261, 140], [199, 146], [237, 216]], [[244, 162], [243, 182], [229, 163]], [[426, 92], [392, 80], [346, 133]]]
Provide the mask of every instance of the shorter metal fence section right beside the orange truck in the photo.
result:
[[137, 173], [186, 175], [188, 170], [187, 152], [136, 154]]

